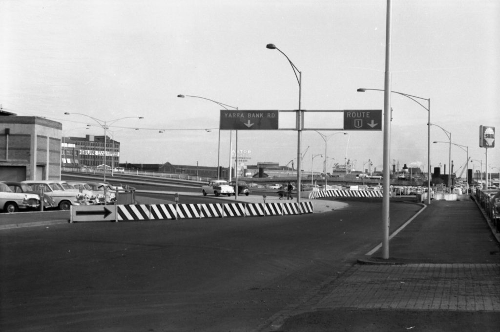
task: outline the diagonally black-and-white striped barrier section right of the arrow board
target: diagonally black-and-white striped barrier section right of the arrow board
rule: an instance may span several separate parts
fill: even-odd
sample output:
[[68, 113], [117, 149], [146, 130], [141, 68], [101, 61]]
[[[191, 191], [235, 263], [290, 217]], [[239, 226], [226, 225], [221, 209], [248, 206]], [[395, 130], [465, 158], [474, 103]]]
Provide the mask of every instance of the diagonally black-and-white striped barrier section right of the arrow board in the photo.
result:
[[[115, 221], [198, 219], [313, 213], [312, 202], [116, 205]], [[75, 220], [78, 221], [78, 220]]]

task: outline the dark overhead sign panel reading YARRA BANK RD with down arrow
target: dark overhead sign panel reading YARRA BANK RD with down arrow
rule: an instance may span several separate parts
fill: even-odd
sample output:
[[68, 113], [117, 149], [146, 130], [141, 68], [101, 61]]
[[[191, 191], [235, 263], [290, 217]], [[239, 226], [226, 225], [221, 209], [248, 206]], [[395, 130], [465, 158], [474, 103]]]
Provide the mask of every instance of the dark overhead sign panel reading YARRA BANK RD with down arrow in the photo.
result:
[[228, 111], [220, 110], [221, 130], [276, 130], [277, 110]]

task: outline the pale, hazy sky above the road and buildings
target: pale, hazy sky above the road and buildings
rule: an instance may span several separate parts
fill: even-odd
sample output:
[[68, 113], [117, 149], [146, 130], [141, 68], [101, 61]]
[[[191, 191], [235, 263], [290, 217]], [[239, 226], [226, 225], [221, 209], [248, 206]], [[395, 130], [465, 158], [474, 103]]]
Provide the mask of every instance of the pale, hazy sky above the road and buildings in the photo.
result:
[[[228, 167], [235, 132], [218, 130], [222, 108], [215, 102], [291, 111], [300, 91], [306, 111], [383, 110], [383, 92], [356, 90], [384, 88], [386, 6], [384, 0], [2, 0], [1, 108], [60, 122], [66, 137], [102, 135], [105, 122], [108, 136], [121, 143], [121, 163]], [[457, 145], [468, 148], [469, 168], [484, 171], [479, 126], [500, 131], [500, 2], [392, 1], [391, 27], [390, 89], [422, 98], [418, 105], [391, 94], [391, 163], [426, 170], [430, 104], [430, 140], [443, 142], [430, 145], [431, 167], [449, 170], [447, 131], [453, 171], [467, 156]], [[266, 49], [270, 43], [301, 72], [300, 89], [288, 60]], [[279, 112], [280, 129], [293, 125], [293, 114]], [[334, 115], [305, 113], [305, 128], [341, 129]], [[382, 131], [320, 133], [326, 147], [324, 136], [302, 131], [303, 170], [321, 170], [325, 148], [328, 169], [350, 160], [363, 170], [369, 160], [372, 170], [382, 170]], [[499, 148], [487, 149], [492, 172], [500, 167]], [[250, 165], [296, 165], [297, 132], [239, 130], [237, 150], [250, 155]]]

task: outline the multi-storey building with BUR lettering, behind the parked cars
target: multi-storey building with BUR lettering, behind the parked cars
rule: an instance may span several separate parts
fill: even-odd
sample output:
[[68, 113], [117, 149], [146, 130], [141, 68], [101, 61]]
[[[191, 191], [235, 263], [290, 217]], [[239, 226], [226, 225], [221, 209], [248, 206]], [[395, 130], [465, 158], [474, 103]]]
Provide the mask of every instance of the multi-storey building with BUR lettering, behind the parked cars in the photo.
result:
[[[119, 165], [120, 143], [106, 136], [63, 137], [61, 159], [63, 167], [110, 167]], [[104, 163], [105, 152], [105, 163]]]

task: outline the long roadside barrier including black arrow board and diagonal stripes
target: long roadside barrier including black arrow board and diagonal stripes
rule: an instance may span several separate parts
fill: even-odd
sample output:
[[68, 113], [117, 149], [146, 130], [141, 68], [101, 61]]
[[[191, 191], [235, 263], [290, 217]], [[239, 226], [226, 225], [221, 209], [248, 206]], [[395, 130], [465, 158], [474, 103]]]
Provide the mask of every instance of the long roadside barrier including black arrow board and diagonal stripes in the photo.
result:
[[71, 206], [70, 222], [147, 221], [313, 213], [312, 202]]

